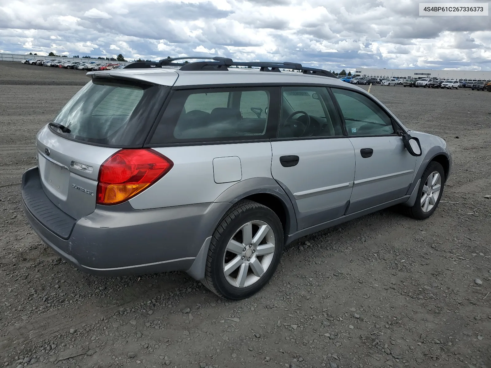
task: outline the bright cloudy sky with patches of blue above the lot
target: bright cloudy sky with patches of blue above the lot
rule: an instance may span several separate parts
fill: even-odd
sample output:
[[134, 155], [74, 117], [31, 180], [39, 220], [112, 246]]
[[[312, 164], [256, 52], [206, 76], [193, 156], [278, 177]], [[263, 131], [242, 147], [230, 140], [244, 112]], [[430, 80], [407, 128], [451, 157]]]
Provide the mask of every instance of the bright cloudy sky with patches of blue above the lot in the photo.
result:
[[491, 70], [490, 16], [420, 17], [418, 3], [0, 0], [0, 52]]

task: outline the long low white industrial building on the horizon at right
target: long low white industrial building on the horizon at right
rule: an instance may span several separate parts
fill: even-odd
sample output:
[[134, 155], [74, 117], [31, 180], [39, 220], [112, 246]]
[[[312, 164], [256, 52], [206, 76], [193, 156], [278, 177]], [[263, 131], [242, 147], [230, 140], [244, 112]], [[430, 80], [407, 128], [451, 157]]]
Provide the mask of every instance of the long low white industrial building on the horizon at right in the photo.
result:
[[491, 72], [475, 70], [433, 70], [433, 69], [372, 69], [357, 68], [355, 76], [369, 78], [404, 78], [404, 79], [451, 79], [481, 81], [491, 80]]

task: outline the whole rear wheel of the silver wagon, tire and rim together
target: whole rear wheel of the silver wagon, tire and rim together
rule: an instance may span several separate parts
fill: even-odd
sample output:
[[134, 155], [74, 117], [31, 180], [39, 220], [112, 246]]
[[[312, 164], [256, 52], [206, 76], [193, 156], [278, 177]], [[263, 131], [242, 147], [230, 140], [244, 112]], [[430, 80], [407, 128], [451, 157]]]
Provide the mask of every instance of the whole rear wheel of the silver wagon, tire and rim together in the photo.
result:
[[226, 299], [247, 298], [271, 279], [283, 245], [283, 227], [273, 210], [239, 201], [213, 234], [203, 285]]

